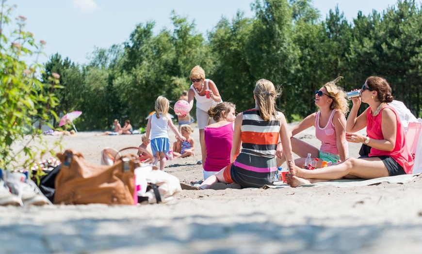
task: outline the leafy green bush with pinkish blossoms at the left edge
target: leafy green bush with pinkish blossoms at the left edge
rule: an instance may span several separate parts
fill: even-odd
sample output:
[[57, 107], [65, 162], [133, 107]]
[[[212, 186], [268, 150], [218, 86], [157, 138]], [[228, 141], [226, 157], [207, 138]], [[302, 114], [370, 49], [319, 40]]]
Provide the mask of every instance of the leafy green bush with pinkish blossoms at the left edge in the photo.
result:
[[[53, 91], [59, 88], [58, 74], [53, 74], [48, 83], [38, 77], [43, 73], [37, 63], [44, 41], [35, 42], [31, 32], [24, 31], [26, 18], [16, 18], [16, 29], [10, 18], [14, 7], [1, 1], [0, 13], [0, 167], [11, 169], [20, 157], [25, 157], [27, 167], [37, 155], [48, 152], [43, 142], [41, 126], [49, 125], [52, 109], [58, 104]], [[5, 35], [9, 32], [9, 35]], [[35, 58], [32, 64], [28, 59]], [[34, 124], [37, 123], [37, 124]], [[37, 139], [37, 146], [31, 146]], [[38, 140], [39, 139], [39, 140]], [[13, 147], [13, 149], [12, 149]]]

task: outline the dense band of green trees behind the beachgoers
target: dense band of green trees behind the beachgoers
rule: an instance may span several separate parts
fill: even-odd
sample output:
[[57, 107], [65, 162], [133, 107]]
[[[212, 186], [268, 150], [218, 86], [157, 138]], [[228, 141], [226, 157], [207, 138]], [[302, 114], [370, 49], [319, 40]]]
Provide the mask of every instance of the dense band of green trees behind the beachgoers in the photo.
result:
[[154, 21], [138, 24], [127, 42], [96, 48], [85, 66], [52, 56], [47, 73], [62, 75], [60, 111], [84, 111], [81, 129], [107, 128], [114, 118], [144, 126], [157, 96], [174, 102], [189, 88], [195, 65], [238, 111], [254, 107], [252, 90], [261, 78], [282, 86], [277, 106], [293, 120], [316, 110], [313, 91], [326, 82], [343, 76], [339, 85], [351, 90], [378, 75], [422, 116], [421, 6], [398, 0], [382, 13], [359, 12], [351, 21], [333, 7], [321, 17], [311, 0], [255, 0], [253, 17], [222, 17], [207, 37], [173, 12], [171, 30], [154, 34]]

